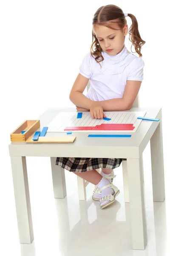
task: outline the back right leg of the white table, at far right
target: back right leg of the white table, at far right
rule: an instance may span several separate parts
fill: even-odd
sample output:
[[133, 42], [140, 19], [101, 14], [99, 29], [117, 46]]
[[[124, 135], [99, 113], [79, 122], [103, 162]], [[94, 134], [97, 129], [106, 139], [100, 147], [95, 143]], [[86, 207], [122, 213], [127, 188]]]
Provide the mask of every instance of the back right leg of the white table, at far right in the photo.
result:
[[153, 136], [150, 139], [150, 151], [152, 163], [153, 201], [164, 202], [164, 156], [161, 120]]

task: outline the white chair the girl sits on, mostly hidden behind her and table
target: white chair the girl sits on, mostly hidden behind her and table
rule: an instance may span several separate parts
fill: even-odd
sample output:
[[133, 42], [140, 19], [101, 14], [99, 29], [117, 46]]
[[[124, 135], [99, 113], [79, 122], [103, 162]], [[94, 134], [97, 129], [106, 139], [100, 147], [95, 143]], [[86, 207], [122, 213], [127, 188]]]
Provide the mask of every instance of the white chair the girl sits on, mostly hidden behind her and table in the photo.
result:
[[[90, 82], [88, 81], [87, 84], [87, 91], [90, 88]], [[139, 108], [139, 95], [136, 97], [133, 108]], [[114, 157], [114, 156], [113, 156]], [[143, 157], [142, 161], [143, 161]], [[122, 170], [123, 170], [123, 183], [124, 183], [124, 196], [125, 196], [125, 203], [129, 203], [129, 188], [128, 188], [128, 177], [127, 177], [127, 161], [122, 161]], [[97, 169], [98, 172], [100, 172], [100, 169]], [[144, 180], [144, 178], [143, 178]], [[83, 180], [79, 176], [77, 176], [77, 183], [78, 183], [78, 191], [79, 191], [79, 200], [85, 200], [86, 199], [86, 186], [88, 185], [87, 180]]]

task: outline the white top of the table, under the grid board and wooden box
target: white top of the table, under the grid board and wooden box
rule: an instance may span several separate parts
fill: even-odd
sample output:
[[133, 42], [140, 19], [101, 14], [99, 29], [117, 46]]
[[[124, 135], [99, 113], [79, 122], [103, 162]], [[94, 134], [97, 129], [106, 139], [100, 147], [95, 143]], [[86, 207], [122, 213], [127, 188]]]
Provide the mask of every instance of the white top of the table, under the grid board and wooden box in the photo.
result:
[[[74, 112], [76, 108], [48, 108], [37, 119], [40, 129], [48, 126], [59, 112]], [[145, 111], [145, 117], [160, 119], [161, 108], [131, 108], [126, 112]], [[120, 111], [125, 112], [125, 111]], [[101, 134], [99, 131], [48, 132], [45, 136], [76, 136], [74, 143], [25, 143], [11, 142], [11, 156], [50, 156], [50, 157], [111, 157], [139, 158], [152, 137], [160, 121], [142, 120], [136, 132], [102, 132], [102, 134], [131, 134], [131, 137], [88, 137], [88, 134]]]

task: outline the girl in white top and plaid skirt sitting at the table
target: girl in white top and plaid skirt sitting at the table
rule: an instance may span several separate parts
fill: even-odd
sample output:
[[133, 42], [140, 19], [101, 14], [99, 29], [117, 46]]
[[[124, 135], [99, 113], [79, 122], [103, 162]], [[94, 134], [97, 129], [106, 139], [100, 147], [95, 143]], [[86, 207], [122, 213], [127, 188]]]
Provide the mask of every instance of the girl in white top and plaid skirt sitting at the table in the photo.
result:
[[[129, 40], [139, 57], [125, 47], [127, 16], [132, 20]], [[103, 111], [126, 111], [132, 107], [143, 80], [143, 44], [134, 15], [124, 14], [115, 5], [102, 6], [96, 11], [91, 52], [83, 58], [70, 93], [70, 100], [78, 111], [90, 111], [92, 118], [103, 119], [106, 117]], [[85, 96], [83, 92], [89, 79], [91, 87]], [[113, 169], [119, 167], [122, 160], [126, 159], [57, 157], [56, 165], [96, 185], [93, 199], [98, 200], [103, 209], [119, 195], [119, 189], [112, 183]], [[96, 171], [99, 168], [101, 174]]]

